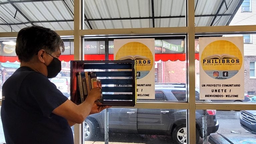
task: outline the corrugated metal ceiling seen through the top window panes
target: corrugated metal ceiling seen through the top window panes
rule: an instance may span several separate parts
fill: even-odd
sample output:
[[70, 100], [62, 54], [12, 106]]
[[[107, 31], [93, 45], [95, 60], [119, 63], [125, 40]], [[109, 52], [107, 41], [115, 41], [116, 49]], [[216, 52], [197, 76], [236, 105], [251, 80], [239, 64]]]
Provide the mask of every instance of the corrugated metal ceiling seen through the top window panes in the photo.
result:
[[[229, 24], [243, 0], [195, 0], [195, 25]], [[186, 0], [84, 0], [84, 29], [186, 26]], [[152, 11], [153, 6], [153, 11]], [[72, 30], [74, 0], [0, 0], [0, 32]]]

